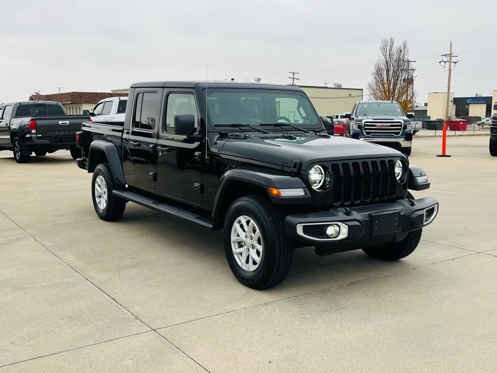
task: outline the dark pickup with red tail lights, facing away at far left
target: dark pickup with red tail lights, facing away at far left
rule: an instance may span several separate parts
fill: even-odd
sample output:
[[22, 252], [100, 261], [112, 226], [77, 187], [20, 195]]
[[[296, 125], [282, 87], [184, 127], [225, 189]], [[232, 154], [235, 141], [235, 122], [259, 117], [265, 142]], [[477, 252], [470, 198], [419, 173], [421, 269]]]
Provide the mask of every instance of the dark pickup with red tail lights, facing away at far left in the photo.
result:
[[12, 150], [17, 163], [27, 163], [31, 153], [44, 156], [60, 149], [81, 157], [75, 133], [87, 115], [67, 115], [53, 101], [26, 101], [0, 105], [0, 150]]

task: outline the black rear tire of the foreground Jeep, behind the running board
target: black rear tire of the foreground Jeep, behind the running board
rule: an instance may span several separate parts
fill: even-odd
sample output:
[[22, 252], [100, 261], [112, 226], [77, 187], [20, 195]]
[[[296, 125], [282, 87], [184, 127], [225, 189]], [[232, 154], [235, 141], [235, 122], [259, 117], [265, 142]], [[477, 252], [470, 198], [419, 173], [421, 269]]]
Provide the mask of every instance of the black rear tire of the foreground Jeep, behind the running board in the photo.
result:
[[[102, 187], [101, 177], [105, 183], [106, 192], [104, 195], [107, 200], [106, 203], [102, 205], [98, 204], [97, 197], [95, 197], [95, 183], [98, 183]], [[101, 189], [101, 188], [100, 188]], [[98, 217], [105, 221], [114, 221], [120, 219], [124, 214], [124, 209], [126, 208], [126, 201], [112, 194], [112, 190], [119, 189], [116, 185], [110, 167], [108, 163], [100, 163], [95, 167], [93, 172], [93, 177], [91, 178], [91, 199], [93, 201], [93, 207]]]

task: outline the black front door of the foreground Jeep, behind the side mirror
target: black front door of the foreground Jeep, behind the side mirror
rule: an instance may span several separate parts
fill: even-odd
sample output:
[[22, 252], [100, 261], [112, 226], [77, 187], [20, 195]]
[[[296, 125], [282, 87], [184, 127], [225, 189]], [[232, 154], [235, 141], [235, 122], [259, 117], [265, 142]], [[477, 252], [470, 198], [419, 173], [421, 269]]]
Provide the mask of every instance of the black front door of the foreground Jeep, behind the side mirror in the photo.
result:
[[[166, 115], [157, 141], [157, 176], [162, 193], [168, 197], [202, 203], [202, 157], [204, 141], [191, 141], [174, 133], [174, 116], [191, 114], [195, 117], [197, 133], [200, 121], [193, 91], [170, 91], [166, 94]], [[203, 152], [202, 152], [203, 151]]]

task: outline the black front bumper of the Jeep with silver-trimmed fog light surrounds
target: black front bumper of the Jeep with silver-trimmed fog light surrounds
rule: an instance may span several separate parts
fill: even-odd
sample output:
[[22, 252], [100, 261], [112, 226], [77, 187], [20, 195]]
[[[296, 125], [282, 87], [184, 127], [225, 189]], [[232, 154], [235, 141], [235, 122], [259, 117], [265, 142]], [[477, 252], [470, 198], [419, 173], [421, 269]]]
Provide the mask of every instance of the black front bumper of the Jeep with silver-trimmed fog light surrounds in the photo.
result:
[[[298, 246], [316, 246], [319, 255], [327, 255], [400, 241], [409, 232], [430, 224], [437, 213], [438, 202], [434, 198], [400, 199], [372, 206], [288, 215], [285, 228]], [[344, 237], [332, 239], [320, 233], [320, 229], [325, 232], [322, 228], [334, 223], [340, 226], [340, 235], [345, 233]]]

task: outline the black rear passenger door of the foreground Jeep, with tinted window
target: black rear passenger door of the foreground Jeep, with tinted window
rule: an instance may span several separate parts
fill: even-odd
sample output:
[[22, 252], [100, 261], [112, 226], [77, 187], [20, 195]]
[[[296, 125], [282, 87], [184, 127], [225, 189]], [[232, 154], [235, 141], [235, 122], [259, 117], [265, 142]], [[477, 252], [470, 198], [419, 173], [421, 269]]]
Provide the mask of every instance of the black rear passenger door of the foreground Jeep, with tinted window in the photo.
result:
[[157, 125], [160, 109], [160, 90], [136, 91], [131, 112], [129, 137], [123, 146], [133, 165], [135, 178], [129, 185], [155, 190], [157, 180]]

